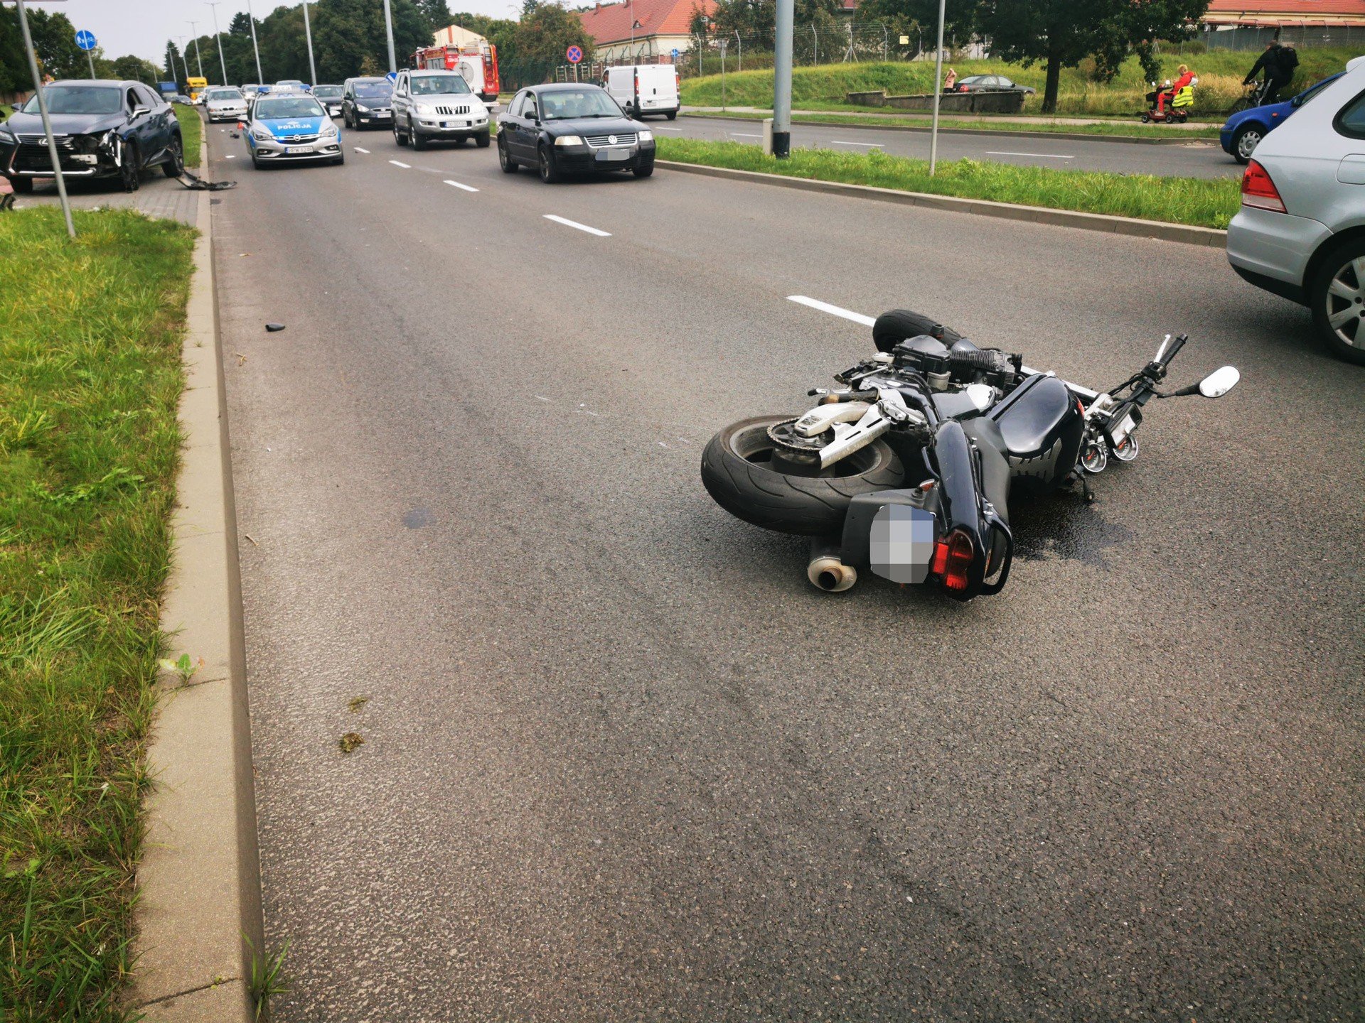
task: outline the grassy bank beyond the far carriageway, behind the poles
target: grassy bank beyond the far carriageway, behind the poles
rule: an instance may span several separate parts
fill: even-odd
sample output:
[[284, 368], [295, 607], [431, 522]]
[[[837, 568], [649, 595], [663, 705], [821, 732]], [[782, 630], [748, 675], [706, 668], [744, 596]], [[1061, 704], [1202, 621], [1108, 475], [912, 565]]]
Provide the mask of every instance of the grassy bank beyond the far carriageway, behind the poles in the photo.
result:
[[[1342, 71], [1358, 50], [1304, 48], [1298, 50], [1299, 67], [1293, 91], [1304, 89], [1327, 75]], [[1241, 80], [1256, 60], [1256, 53], [1209, 50], [1182, 57], [1179, 53], [1162, 57], [1163, 78], [1174, 76], [1181, 64], [1200, 76], [1194, 91], [1194, 113], [1216, 116], [1226, 112], [1241, 95]], [[1024, 113], [1041, 110], [1044, 68], [1041, 64], [1025, 68], [1002, 60], [956, 61], [958, 78], [968, 75], [1006, 75], [1020, 85], [1033, 86], [1039, 94], [1024, 105]], [[1129, 57], [1118, 76], [1108, 83], [1092, 82], [1087, 76], [1088, 63], [1080, 68], [1063, 68], [1058, 94], [1058, 113], [1127, 117], [1141, 113], [1147, 104], [1143, 95], [1149, 86], [1143, 79], [1141, 65]], [[796, 109], [838, 109], [848, 93], [886, 89], [891, 95], [932, 91], [932, 61], [887, 61], [870, 64], [820, 64], [792, 70], [792, 106]], [[1290, 93], [1286, 93], [1289, 95]], [[773, 71], [744, 71], [725, 76], [726, 102], [734, 106], [773, 106]], [[682, 79], [682, 102], [688, 106], [719, 106], [721, 76]]]

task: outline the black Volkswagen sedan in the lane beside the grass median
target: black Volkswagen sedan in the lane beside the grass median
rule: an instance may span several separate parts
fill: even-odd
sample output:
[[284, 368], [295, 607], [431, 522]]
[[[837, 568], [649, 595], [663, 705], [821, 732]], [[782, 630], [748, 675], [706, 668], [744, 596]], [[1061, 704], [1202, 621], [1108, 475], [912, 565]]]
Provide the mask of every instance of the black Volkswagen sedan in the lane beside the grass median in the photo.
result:
[[631, 120], [594, 85], [523, 89], [498, 117], [498, 162], [513, 175], [526, 164], [542, 181], [566, 173], [631, 170], [654, 173], [654, 134]]

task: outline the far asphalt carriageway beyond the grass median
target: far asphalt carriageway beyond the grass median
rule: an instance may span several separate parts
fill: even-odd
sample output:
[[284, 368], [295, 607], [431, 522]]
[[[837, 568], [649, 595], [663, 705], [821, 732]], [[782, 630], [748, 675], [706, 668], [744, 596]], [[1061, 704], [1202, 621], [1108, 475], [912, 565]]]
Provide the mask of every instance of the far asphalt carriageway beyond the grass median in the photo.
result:
[[[674, 121], [648, 120], [659, 138], [713, 139], [760, 145], [763, 123], [687, 115]], [[880, 149], [897, 157], [930, 157], [925, 131], [887, 131], [860, 125], [793, 124], [792, 145], [867, 153]], [[939, 134], [939, 160], [994, 160], [999, 164], [1051, 166], [1061, 170], [1170, 175], [1177, 177], [1241, 177], [1242, 165], [1216, 142], [1190, 140], [1153, 146], [1141, 142], [1021, 136], [1017, 131], [992, 135]]]

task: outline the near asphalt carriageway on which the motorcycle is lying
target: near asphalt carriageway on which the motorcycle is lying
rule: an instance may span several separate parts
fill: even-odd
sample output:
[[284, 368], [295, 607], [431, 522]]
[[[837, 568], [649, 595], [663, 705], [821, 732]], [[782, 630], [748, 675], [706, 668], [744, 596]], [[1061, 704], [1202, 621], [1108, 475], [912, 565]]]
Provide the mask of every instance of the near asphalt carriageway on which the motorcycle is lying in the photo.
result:
[[[276, 1019], [1357, 1018], [1365, 371], [1305, 311], [1208, 248], [210, 145]], [[830, 596], [698, 477], [870, 351], [793, 295], [1244, 382], [1016, 509], [1002, 595]]]

